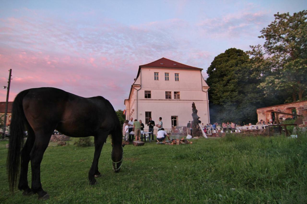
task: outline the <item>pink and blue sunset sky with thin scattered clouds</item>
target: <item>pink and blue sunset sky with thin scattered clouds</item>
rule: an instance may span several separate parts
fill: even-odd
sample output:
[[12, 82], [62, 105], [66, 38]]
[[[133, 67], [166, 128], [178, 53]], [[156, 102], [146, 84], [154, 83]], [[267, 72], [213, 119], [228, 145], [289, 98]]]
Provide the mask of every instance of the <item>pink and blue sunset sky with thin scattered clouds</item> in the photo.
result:
[[[104, 96], [124, 109], [138, 66], [162, 57], [203, 68], [235, 47], [263, 44], [274, 14], [307, 1], [1, 1], [0, 86], [9, 101], [34, 87]], [[0, 101], [6, 89], [0, 89]]]

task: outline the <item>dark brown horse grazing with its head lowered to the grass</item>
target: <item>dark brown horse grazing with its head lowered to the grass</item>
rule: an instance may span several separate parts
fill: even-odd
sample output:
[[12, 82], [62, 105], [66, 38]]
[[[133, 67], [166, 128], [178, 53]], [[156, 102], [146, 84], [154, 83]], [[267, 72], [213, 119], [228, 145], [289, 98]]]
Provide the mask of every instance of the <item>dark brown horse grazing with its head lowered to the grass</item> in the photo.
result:
[[[24, 131], [28, 138], [23, 145]], [[84, 98], [61, 89], [43, 87], [20, 92], [14, 102], [10, 125], [7, 170], [10, 190], [17, 185], [23, 195], [49, 195], [41, 186], [41, 160], [54, 130], [71, 136], [94, 136], [95, 153], [88, 172], [90, 184], [100, 175], [98, 160], [107, 136], [112, 135], [113, 170], [119, 172], [122, 163], [122, 130], [111, 103], [102, 96]], [[21, 150], [22, 148], [22, 150]], [[28, 164], [31, 161], [32, 186], [28, 185]]]

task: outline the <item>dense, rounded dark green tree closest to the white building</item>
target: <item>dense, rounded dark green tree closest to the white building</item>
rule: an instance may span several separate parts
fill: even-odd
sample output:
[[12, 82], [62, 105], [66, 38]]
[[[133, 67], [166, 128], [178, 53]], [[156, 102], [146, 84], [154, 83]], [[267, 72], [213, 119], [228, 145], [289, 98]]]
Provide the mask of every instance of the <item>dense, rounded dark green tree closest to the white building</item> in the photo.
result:
[[230, 48], [208, 67], [210, 120], [249, 123], [257, 121], [262, 106], [259, 66], [242, 50]]

